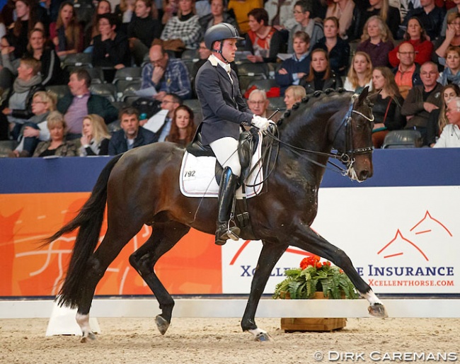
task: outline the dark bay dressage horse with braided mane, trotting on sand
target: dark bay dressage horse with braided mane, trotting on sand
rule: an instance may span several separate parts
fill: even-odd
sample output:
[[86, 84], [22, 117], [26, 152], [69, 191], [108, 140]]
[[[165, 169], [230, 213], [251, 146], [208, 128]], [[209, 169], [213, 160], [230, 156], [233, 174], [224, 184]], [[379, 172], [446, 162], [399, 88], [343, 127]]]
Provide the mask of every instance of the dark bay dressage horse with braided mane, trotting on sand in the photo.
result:
[[[370, 314], [385, 317], [384, 305], [345, 252], [310, 228], [332, 148], [342, 156], [350, 178], [364, 181], [372, 176], [373, 115], [367, 89], [360, 96], [345, 91], [315, 93], [287, 111], [282, 119], [280, 137], [275, 142], [279, 149], [271, 154], [272, 173], [264, 183], [264, 193], [247, 201], [253, 233], [242, 229], [240, 235], [242, 239], [263, 242], [241, 319], [243, 331], [250, 331], [260, 341], [270, 339], [255, 324], [255, 311], [272, 268], [288, 244], [342, 268], [369, 301]], [[184, 149], [176, 144], [156, 143], [114, 157], [101, 172], [79, 215], [47, 239], [49, 244], [79, 228], [59, 303], [78, 308], [76, 320], [83, 332], [82, 341], [94, 337], [89, 310], [96, 285], [144, 224], [153, 227], [151, 237], [130, 256], [130, 264], [154, 292], [161, 309], [156, 325], [161, 334], [166, 333], [174, 301], [154, 272], [155, 263], [190, 227], [214, 234], [217, 217], [217, 199], [186, 198], [180, 193], [183, 154]], [[108, 229], [96, 249], [106, 204]]]

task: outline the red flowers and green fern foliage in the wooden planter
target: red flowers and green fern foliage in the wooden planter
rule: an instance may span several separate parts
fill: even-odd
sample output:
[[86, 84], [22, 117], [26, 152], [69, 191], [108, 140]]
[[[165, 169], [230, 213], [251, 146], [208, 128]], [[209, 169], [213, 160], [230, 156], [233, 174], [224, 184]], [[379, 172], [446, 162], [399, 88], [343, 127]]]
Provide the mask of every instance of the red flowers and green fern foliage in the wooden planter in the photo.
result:
[[355, 285], [350, 278], [330, 261], [320, 262], [319, 256], [308, 256], [300, 262], [300, 268], [284, 272], [287, 278], [275, 287], [273, 298], [313, 298], [315, 292], [323, 292], [332, 299], [357, 298]]

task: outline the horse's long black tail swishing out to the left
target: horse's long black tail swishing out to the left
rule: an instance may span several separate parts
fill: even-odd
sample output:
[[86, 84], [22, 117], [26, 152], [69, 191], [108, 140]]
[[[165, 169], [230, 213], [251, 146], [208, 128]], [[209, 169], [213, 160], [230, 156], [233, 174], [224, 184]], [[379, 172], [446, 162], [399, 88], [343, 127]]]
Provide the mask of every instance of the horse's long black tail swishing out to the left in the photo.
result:
[[96, 249], [102, 227], [105, 203], [107, 202], [107, 183], [110, 173], [122, 154], [111, 159], [104, 167], [96, 181], [90, 198], [81, 207], [79, 215], [64, 227], [59, 229], [52, 237], [44, 240], [43, 245], [50, 244], [63, 234], [73, 232], [79, 227], [76, 235], [74, 250], [72, 251], [67, 275], [59, 291], [59, 305], [67, 305], [71, 308], [78, 307], [79, 297], [83, 292], [84, 274], [88, 267], [88, 260]]

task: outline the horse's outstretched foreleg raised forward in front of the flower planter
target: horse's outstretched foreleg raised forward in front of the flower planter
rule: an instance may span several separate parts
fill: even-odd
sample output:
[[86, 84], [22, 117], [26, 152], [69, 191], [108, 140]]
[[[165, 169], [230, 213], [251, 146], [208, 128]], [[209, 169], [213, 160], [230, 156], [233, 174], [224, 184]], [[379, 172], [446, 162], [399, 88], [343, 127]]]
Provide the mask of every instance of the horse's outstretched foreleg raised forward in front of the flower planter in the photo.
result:
[[370, 288], [357, 273], [352, 261], [347, 254], [345, 254], [345, 251], [330, 244], [329, 241], [314, 232], [310, 227], [304, 227], [294, 232], [294, 234], [290, 236], [290, 245], [298, 246], [305, 251], [326, 258], [336, 266], [342, 268], [355, 285], [358, 292], [360, 292], [360, 295], [369, 302], [369, 314], [375, 317], [388, 317], [386, 309], [379, 300], [379, 297], [375, 295], [372, 288]]

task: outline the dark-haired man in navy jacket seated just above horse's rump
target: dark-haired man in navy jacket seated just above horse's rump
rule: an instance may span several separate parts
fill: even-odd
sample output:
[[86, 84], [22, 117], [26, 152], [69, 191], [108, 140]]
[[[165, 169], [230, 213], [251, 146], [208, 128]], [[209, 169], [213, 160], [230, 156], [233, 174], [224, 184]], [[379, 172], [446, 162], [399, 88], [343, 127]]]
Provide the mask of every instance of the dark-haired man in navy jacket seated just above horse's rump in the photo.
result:
[[108, 144], [109, 155], [124, 153], [158, 140], [153, 132], [139, 125], [139, 113], [135, 108], [120, 110], [120, 126], [122, 129], [113, 133]]

